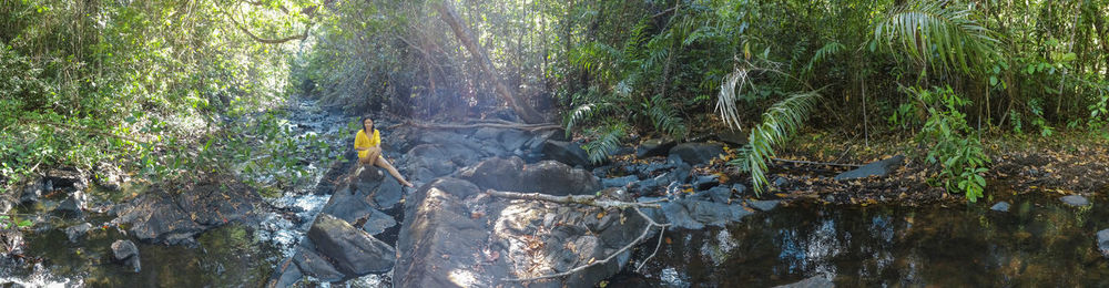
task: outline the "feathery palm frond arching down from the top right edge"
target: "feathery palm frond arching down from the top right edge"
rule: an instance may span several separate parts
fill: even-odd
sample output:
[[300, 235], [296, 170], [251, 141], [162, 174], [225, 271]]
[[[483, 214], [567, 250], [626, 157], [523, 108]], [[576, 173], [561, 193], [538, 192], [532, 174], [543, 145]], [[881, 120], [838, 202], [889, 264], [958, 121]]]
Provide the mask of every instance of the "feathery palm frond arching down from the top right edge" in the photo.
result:
[[895, 42], [922, 64], [965, 73], [996, 51], [989, 30], [970, 19], [970, 11], [947, 1], [914, 1], [896, 8], [874, 25], [874, 41]]

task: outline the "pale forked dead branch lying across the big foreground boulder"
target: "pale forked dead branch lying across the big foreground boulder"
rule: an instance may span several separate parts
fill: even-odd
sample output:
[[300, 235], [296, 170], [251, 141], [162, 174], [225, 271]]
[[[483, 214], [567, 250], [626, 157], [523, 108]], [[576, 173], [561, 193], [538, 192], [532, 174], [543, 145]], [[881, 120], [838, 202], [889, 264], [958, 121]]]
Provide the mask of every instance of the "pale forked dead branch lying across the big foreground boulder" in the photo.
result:
[[[660, 233], [659, 234], [659, 239], [660, 240], [659, 240], [658, 246], [661, 246], [662, 245], [662, 240], [661, 240], [662, 239], [662, 233], [665, 232], [667, 227], [670, 226], [669, 223], [667, 223], [667, 224], [660, 224], [660, 223], [655, 222], [650, 216], [648, 216], [645, 213], [643, 213], [643, 210], [639, 209], [640, 207], [659, 208], [660, 205], [655, 204], [655, 203], [637, 203], [637, 202], [621, 202], [621, 200], [599, 200], [598, 196], [594, 196], [594, 195], [553, 196], [553, 195], [539, 194], [539, 193], [502, 192], [502, 191], [494, 191], [494, 189], [487, 189], [486, 193], [489, 194], [490, 196], [496, 196], [496, 197], [501, 197], [501, 198], [510, 198], [510, 199], [542, 200], [542, 202], [551, 202], [551, 203], [559, 203], [559, 204], [581, 204], [581, 205], [589, 205], [589, 206], [601, 207], [601, 208], [610, 208], [610, 207], [615, 207], [615, 208], [621, 208], [621, 209], [622, 208], [632, 208], [632, 209], [635, 210], [637, 214], [639, 214], [640, 217], [643, 217], [643, 219], [647, 220], [647, 223], [648, 223], [647, 227], [643, 228], [643, 233], [640, 234], [639, 237], [637, 237], [634, 240], [631, 240], [631, 243], [628, 243], [628, 245], [624, 245], [624, 247], [621, 247], [619, 250], [612, 253], [611, 255], [609, 255], [609, 257], [604, 257], [604, 259], [591, 261], [589, 264], [586, 264], [586, 265], [582, 265], [582, 266], [578, 266], [578, 267], [574, 267], [572, 269], [566, 270], [566, 271], [559, 272], [559, 274], [536, 276], [536, 277], [529, 277], [529, 278], [515, 278], [515, 279], [513, 278], [506, 278], [506, 279], [501, 279], [503, 281], [519, 281], [519, 282], [523, 282], [523, 281], [535, 281], [535, 280], [542, 280], [542, 279], [564, 277], [564, 276], [570, 276], [570, 275], [576, 274], [576, 272], [580, 272], [580, 271], [582, 271], [584, 269], [588, 269], [589, 267], [608, 264], [612, 259], [615, 259], [617, 256], [619, 256], [620, 254], [623, 254], [624, 251], [628, 251], [628, 249], [631, 249], [632, 247], [635, 247], [635, 245], [639, 245], [640, 241], [645, 240], [647, 236], [651, 233], [651, 229], [654, 228], [654, 227], [659, 227], [659, 233]], [[644, 259], [643, 263], [647, 263], [647, 260], [650, 260], [652, 257], [654, 257], [654, 254], [659, 253], [659, 247], [658, 246], [654, 247], [654, 253], [651, 254], [650, 257], [647, 257], [647, 259]], [[640, 264], [639, 268], [642, 268], [642, 267], [643, 267], [643, 265]], [[637, 268], [635, 270], [639, 270], [639, 268]]]

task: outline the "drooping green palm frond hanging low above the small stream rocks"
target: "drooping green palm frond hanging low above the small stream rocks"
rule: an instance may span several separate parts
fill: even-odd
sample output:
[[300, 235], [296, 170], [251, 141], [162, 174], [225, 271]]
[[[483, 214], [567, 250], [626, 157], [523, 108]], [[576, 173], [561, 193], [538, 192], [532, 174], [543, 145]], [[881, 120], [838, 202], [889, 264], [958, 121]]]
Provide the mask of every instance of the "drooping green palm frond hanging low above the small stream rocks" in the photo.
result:
[[763, 113], [762, 123], [751, 130], [747, 146], [730, 164], [751, 173], [751, 186], [756, 194], [765, 191], [770, 183], [766, 163], [774, 157], [774, 147], [785, 144], [797, 132], [820, 99], [821, 95], [816, 92], [786, 97], [767, 109]]

